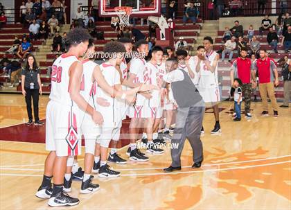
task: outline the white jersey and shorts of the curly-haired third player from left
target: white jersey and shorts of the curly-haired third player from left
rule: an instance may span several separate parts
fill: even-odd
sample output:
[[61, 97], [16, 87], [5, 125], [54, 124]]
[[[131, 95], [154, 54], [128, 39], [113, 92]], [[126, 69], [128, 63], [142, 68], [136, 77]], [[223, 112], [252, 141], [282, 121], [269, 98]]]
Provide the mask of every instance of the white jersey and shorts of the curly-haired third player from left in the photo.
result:
[[[100, 65], [100, 70], [109, 86], [114, 87], [114, 85], [121, 84], [119, 72], [112, 64], [105, 62]], [[116, 128], [118, 124], [121, 123], [121, 110], [118, 105], [118, 99], [112, 98], [112, 96], [107, 94], [100, 87], [97, 87], [97, 93], [98, 97], [105, 98], [110, 104], [108, 107], [96, 105], [98, 112], [103, 115], [103, 128]]]

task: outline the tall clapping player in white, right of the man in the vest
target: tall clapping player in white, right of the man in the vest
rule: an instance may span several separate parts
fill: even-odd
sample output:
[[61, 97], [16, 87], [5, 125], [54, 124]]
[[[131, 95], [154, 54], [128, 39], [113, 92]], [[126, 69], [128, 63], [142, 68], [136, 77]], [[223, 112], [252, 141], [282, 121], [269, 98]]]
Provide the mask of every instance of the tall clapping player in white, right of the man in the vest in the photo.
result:
[[[221, 132], [219, 123], [219, 109], [218, 103], [220, 102], [220, 94], [218, 87], [218, 60], [219, 55], [213, 48], [213, 40], [211, 37], [204, 37], [204, 49], [205, 54], [198, 54], [198, 62], [196, 71], [200, 74], [197, 89], [202, 96], [206, 107], [213, 107], [215, 116], [215, 125], [211, 134], [217, 134]], [[201, 132], [204, 132], [203, 126]]]

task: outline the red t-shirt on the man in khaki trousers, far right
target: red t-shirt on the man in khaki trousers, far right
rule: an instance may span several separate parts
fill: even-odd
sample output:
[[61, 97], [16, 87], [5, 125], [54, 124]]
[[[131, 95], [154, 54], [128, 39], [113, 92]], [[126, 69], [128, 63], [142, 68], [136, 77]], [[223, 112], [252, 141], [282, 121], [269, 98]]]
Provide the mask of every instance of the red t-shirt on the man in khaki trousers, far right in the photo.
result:
[[276, 64], [274, 60], [266, 58], [265, 60], [258, 59], [254, 62], [254, 67], [252, 68], [258, 71], [258, 82], [259, 83], [269, 83], [274, 81], [274, 69], [276, 69]]

